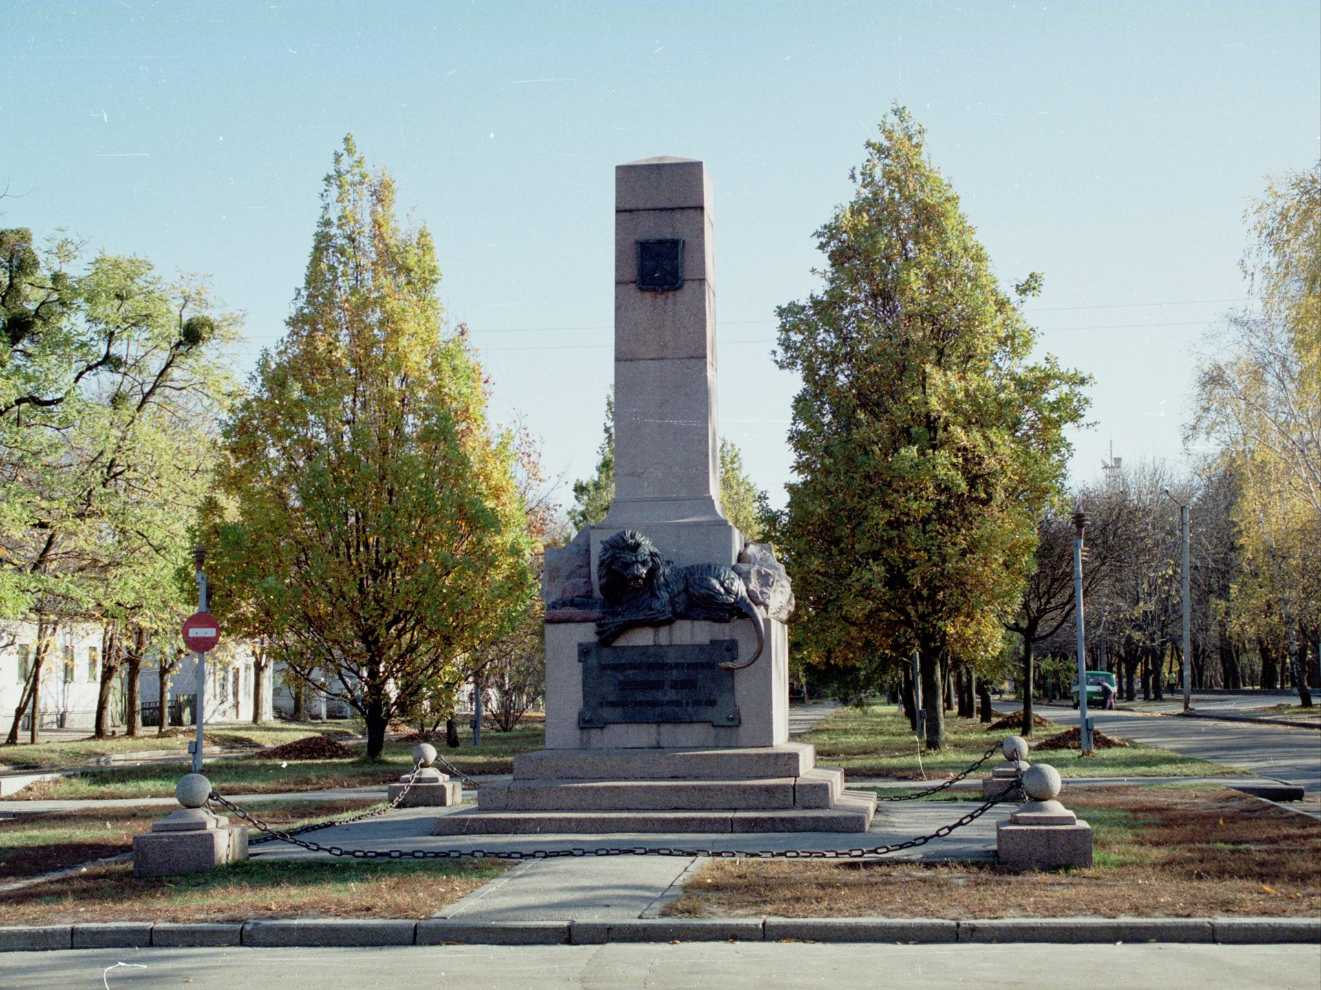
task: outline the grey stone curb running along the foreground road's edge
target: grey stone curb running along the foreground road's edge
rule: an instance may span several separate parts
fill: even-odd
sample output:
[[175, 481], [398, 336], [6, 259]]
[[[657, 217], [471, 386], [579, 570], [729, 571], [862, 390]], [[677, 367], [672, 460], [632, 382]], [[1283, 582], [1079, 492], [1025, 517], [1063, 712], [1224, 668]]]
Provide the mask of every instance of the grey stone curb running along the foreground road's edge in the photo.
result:
[[617, 921], [308, 917], [0, 927], [0, 952], [716, 941], [1321, 945], [1321, 917], [997, 917], [964, 921], [927, 917], [634, 917]]

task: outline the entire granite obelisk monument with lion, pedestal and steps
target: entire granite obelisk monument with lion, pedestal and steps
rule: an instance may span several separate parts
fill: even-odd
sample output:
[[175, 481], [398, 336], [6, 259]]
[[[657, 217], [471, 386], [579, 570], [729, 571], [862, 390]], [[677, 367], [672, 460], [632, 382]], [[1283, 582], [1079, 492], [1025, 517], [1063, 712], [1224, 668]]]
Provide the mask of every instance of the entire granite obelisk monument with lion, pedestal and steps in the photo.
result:
[[546, 552], [546, 748], [436, 831], [864, 831], [875, 797], [789, 740], [789, 576], [720, 506], [707, 169], [614, 188], [614, 501]]

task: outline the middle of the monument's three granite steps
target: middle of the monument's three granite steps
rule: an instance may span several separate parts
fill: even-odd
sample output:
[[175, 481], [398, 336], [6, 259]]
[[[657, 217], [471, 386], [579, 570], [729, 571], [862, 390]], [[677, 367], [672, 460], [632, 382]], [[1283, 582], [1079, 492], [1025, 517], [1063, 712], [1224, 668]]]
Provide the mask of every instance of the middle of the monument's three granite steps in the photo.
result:
[[[822, 781], [810, 781], [818, 790]], [[740, 812], [789, 810], [795, 779], [764, 780], [511, 780], [482, 784], [483, 812]]]

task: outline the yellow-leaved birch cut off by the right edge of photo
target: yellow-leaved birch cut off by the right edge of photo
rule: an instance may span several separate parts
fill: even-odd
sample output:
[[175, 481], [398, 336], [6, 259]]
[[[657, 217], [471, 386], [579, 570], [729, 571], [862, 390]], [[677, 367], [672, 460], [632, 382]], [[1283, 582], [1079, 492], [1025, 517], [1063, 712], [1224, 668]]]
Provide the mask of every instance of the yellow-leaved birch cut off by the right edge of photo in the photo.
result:
[[1287, 657], [1309, 707], [1309, 641], [1321, 658], [1309, 593], [1321, 535], [1321, 164], [1269, 180], [1244, 219], [1248, 305], [1229, 316], [1198, 371], [1189, 434], [1215, 443], [1213, 460], [1238, 485], [1238, 630]]

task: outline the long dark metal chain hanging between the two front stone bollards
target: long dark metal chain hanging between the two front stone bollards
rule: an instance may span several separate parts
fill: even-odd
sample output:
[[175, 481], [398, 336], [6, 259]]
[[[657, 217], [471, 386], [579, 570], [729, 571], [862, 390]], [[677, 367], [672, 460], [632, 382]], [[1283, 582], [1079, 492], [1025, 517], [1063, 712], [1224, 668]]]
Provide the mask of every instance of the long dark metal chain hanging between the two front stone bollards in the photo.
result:
[[[415, 771], [416, 773], [416, 771]], [[1022, 772], [1018, 773], [1018, 782], [1021, 786]], [[222, 797], [215, 790], [211, 792], [210, 800], [215, 804], [226, 808], [227, 810], [236, 814], [239, 818], [246, 821], [252, 827], [267, 833], [272, 839], [279, 839], [281, 842], [288, 842], [293, 846], [300, 846], [309, 853], [326, 853], [332, 857], [350, 857], [353, 859], [561, 859], [565, 857], [705, 857], [711, 859], [863, 859], [867, 857], [884, 857], [892, 853], [902, 853], [909, 849], [918, 849], [926, 843], [945, 838], [950, 835], [956, 829], [962, 829], [964, 825], [970, 825], [980, 818], [983, 814], [989, 812], [995, 805], [1001, 801], [1008, 800], [1009, 790], [1004, 790], [995, 797], [984, 801], [978, 808], [950, 822], [948, 825], [942, 825], [933, 833], [926, 835], [918, 835], [917, 838], [905, 839], [904, 842], [892, 842], [886, 846], [857, 846], [853, 849], [781, 849], [781, 850], [742, 850], [742, 849], [684, 849], [674, 846], [602, 846], [597, 849], [585, 847], [572, 847], [572, 849], [536, 849], [536, 850], [485, 850], [485, 849], [343, 849], [342, 846], [322, 846], [320, 842], [310, 842], [308, 839], [296, 838], [296, 833], [304, 831], [304, 829], [292, 829], [288, 831], [273, 829], [260, 818], [250, 814], [248, 812], [239, 808], [232, 801]], [[402, 797], [402, 794], [400, 794]], [[386, 809], [388, 810], [388, 809]], [[380, 814], [382, 812], [373, 812], [370, 814], [358, 816], [354, 819], [367, 818], [374, 814]], [[325, 827], [325, 826], [320, 826]], [[310, 830], [310, 829], [306, 829]]]

